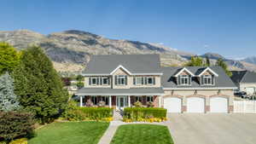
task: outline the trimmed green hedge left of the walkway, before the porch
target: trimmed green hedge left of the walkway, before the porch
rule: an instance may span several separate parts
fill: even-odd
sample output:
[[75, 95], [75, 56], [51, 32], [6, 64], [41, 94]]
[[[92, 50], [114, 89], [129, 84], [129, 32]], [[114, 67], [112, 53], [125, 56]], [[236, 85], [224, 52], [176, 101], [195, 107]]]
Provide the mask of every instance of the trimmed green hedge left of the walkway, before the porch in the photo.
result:
[[109, 121], [113, 117], [113, 109], [109, 107], [75, 107], [67, 110], [63, 117], [71, 121]]

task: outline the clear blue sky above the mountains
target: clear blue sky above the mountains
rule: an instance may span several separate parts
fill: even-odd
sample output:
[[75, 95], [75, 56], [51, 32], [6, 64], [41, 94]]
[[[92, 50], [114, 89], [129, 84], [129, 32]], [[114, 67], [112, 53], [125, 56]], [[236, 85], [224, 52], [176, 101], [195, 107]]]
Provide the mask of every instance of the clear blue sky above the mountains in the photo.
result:
[[1, 0], [0, 31], [81, 30], [202, 55], [256, 55], [255, 0]]

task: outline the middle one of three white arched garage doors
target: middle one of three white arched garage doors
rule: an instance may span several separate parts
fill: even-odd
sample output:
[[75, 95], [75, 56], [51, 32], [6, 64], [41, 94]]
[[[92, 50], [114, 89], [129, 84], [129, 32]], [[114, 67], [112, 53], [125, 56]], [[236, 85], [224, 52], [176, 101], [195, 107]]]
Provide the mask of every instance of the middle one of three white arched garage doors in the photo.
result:
[[205, 112], [205, 99], [190, 97], [187, 99], [187, 112]]

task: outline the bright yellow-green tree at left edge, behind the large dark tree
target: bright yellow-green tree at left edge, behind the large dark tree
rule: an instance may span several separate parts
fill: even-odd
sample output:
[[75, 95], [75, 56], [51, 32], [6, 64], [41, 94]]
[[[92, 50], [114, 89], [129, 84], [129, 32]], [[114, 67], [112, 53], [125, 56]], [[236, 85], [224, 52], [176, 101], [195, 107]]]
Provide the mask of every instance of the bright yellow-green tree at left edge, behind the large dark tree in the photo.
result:
[[20, 53], [9, 45], [9, 43], [0, 43], [0, 74], [12, 72], [19, 64]]

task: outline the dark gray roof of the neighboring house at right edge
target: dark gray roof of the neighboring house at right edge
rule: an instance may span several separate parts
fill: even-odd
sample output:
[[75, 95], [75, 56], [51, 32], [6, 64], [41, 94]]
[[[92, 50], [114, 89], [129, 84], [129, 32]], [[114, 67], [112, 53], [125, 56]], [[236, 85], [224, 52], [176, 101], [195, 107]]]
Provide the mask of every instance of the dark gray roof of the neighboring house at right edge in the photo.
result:
[[232, 71], [234, 83], [256, 83], [256, 72]]

